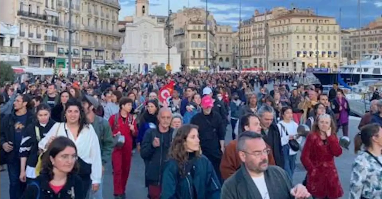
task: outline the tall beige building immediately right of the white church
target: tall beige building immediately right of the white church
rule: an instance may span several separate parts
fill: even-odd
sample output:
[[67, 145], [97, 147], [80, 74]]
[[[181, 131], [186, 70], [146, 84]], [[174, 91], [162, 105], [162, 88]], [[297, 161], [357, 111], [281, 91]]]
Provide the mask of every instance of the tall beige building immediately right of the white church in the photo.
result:
[[[206, 22], [208, 24], [207, 29]], [[217, 51], [216, 34], [218, 26], [211, 13], [207, 16], [206, 10], [202, 8], [183, 7], [182, 10], [172, 13], [170, 24], [173, 27], [172, 40], [181, 54], [183, 66], [188, 70], [204, 69], [207, 65], [217, 66], [219, 52]], [[220, 35], [223, 34], [225, 33]], [[222, 42], [223, 44], [225, 45], [226, 42]]]

